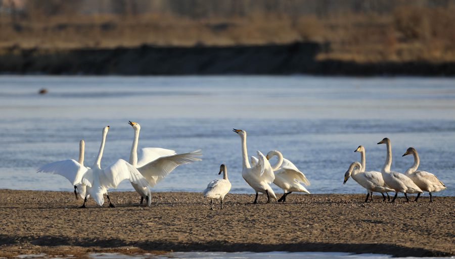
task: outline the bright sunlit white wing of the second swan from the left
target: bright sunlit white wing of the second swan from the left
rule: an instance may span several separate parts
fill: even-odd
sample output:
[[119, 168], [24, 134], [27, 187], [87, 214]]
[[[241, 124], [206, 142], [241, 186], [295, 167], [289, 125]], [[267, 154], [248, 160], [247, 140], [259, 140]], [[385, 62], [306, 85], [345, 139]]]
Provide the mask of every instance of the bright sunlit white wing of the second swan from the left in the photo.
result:
[[138, 169], [123, 159], [119, 159], [111, 166], [104, 168], [102, 175], [100, 175], [100, 183], [112, 188], [117, 188], [118, 184], [126, 179], [141, 187], [148, 186], [147, 180]]

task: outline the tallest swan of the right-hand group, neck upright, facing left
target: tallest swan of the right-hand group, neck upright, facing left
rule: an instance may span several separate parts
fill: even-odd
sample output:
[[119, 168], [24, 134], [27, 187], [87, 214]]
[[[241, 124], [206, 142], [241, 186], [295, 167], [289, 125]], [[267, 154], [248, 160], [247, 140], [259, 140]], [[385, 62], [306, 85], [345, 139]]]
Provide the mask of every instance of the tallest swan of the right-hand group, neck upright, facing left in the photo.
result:
[[392, 203], [395, 202], [396, 197], [398, 196], [398, 192], [403, 192], [404, 197], [406, 197], [406, 202], [409, 202], [407, 198], [407, 193], [419, 193], [422, 190], [417, 186], [411, 178], [407, 177], [406, 175], [390, 171], [390, 166], [392, 165], [392, 146], [390, 140], [388, 138], [384, 138], [381, 140], [379, 144], [386, 144], [387, 145], [387, 157], [382, 167], [381, 173], [384, 182], [390, 188], [395, 190], [395, 196], [392, 199]]

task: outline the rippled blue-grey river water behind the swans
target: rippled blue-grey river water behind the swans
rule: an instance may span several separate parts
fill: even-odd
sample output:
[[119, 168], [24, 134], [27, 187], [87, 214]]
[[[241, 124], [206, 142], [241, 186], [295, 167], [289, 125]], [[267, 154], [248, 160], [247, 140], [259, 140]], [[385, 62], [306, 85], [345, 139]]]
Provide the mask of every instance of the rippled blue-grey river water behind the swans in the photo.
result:
[[[41, 88], [48, 94], [38, 95]], [[412, 156], [436, 174], [453, 196], [455, 185], [455, 79], [337, 77], [0, 77], [0, 188], [71, 190], [63, 177], [36, 174], [53, 161], [94, 162], [101, 130], [110, 125], [102, 165], [128, 159], [133, 138], [128, 120], [142, 126], [139, 146], [177, 152], [202, 149], [203, 161], [175, 169], [157, 191], [202, 191], [228, 165], [233, 192], [253, 193], [241, 176], [240, 138], [248, 133], [255, 155], [280, 150], [310, 180], [312, 193], [364, 190], [350, 179], [358, 145], [367, 170], [380, 170], [384, 137], [392, 140], [392, 169], [404, 171]], [[282, 192], [274, 187], [277, 192]], [[133, 190], [122, 182], [119, 190]]]

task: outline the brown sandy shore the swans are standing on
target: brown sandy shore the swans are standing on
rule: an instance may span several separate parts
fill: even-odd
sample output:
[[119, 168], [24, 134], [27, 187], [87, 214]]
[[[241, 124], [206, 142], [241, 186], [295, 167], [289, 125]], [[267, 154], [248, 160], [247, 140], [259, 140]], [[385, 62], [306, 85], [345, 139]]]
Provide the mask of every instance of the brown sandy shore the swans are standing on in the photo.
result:
[[209, 210], [200, 193], [111, 192], [117, 208], [71, 192], [0, 190], [0, 257], [19, 254], [157, 251], [339, 251], [397, 256], [455, 255], [455, 197], [363, 203], [364, 195], [288, 196], [287, 204], [225, 198]]

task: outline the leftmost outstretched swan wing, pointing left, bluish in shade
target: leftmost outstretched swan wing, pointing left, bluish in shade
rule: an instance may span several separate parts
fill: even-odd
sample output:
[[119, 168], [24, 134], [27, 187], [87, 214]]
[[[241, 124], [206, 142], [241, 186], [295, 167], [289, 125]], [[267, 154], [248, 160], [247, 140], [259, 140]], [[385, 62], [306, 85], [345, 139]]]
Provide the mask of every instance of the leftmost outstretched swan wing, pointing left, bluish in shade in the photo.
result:
[[87, 171], [87, 168], [79, 164], [74, 159], [68, 159], [63, 161], [57, 161], [42, 166], [36, 172], [37, 173], [51, 173], [60, 174], [68, 179], [72, 185], [80, 183], [82, 175]]

